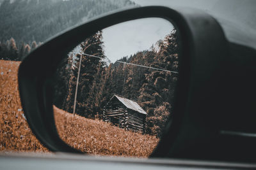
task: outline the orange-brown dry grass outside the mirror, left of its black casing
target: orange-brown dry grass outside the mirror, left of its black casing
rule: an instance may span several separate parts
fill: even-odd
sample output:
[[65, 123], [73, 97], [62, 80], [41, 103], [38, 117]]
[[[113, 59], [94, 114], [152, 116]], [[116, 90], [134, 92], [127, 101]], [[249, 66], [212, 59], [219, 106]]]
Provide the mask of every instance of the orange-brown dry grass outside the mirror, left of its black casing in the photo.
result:
[[20, 104], [20, 62], [0, 60], [0, 151], [48, 152], [32, 134]]

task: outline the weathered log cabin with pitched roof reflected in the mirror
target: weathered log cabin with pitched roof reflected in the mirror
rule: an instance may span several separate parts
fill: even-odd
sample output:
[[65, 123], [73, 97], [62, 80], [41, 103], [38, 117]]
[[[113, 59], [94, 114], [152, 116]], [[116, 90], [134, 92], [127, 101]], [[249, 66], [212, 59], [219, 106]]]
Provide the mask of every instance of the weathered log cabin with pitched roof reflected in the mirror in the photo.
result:
[[115, 94], [104, 106], [102, 116], [105, 122], [120, 128], [144, 132], [147, 113], [135, 101]]

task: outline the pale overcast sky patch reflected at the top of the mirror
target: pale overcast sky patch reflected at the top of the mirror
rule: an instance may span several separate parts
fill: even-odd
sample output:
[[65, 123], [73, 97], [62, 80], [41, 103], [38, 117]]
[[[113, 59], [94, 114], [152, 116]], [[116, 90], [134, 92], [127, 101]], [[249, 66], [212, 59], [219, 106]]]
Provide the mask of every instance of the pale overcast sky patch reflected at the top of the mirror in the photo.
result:
[[111, 60], [147, 50], [159, 39], [164, 39], [173, 25], [162, 18], [143, 18], [103, 29], [105, 54]]

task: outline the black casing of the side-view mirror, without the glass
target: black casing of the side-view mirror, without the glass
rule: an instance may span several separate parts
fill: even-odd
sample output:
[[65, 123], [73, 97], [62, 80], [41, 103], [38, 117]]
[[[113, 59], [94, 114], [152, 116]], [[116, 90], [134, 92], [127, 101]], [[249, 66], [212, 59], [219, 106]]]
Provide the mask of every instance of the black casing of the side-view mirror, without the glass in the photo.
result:
[[225, 93], [228, 41], [220, 24], [207, 13], [162, 6], [132, 8], [90, 20], [47, 41], [22, 61], [19, 89], [24, 113], [36, 138], [49, 150], [80, 153], [61, 141], [54, 124], [52, 75], [61, 59], [101, 29], [147, 17], [172, 22], [181, 49], [173, 118], [151, 157], [227, 160], [230, 153], [220, 155], [220, 145], [210, 145], [220, 137], [216, 122], [223, 106], [220, 96]]

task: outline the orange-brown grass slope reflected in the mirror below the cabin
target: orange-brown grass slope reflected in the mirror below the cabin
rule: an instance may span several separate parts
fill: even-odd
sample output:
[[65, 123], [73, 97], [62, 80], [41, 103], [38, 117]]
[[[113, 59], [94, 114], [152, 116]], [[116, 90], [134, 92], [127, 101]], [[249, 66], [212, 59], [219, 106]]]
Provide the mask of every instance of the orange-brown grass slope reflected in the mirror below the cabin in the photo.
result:
[[56, 107], [54, 117], [63, 141], [93, 155], [148, 157], [158, 143], [156, 136], [125, 131], [100, 120], [73, 116]]

